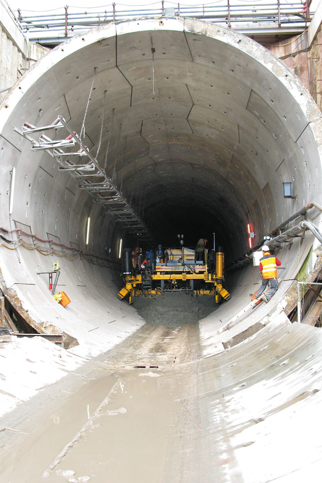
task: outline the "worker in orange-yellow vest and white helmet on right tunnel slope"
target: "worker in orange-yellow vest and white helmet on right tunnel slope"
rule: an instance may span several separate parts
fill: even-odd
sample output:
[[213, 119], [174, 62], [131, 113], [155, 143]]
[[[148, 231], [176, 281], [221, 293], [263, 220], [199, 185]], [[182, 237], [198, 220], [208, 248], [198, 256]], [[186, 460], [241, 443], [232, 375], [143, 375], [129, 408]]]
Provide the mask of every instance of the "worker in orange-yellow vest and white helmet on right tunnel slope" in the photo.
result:
[[259, 270], [261, 271], [262, 275], [262, 284], [255, 295], [255, 299], [260, 297], [269, 283], [270, 290], [262, 296], [262, 300], [267, 304], [267, 302], [269, 302], [273, 295], [277, 292], [277, 266], [280, 266], [281, 262], [277, 256], [270, 254], [269, 246], [264, 245], [262, 247], [262, 252], [263, 256], [259, 260]]

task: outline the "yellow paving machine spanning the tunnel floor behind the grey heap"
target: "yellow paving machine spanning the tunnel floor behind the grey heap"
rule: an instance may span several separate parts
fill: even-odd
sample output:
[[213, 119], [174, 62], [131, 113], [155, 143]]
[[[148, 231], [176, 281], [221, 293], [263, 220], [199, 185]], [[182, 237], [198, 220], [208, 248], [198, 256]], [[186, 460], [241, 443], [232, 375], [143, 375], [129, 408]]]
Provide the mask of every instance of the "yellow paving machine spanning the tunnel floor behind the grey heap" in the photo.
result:
[[[183, 292], [192, 296], [210, 295], [216, 303], [228, 301], [230, 294], [223, 287], [224, 253], [204, 249], [203, 259], [195, 260], [195, 250], [191, 248], [168, 248], [142, 253], [140, 248], [126, 248], [122, 255], [124, 287], [117, 297], [128, 297], [133, 303], [140, 295], [162, 295], [164, 292]], [[150, 258], [145, 268], [144, 260]]]

